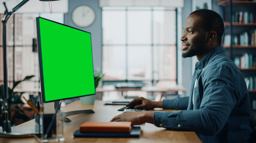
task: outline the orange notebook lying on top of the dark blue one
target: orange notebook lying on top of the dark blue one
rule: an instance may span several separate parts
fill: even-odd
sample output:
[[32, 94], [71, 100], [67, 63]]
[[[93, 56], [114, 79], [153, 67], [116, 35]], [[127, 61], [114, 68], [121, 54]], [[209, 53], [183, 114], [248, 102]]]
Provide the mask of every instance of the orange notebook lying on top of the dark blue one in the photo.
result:
[[131, 122], [85, 122], [80, 125], [80, 132], [129, 133]]

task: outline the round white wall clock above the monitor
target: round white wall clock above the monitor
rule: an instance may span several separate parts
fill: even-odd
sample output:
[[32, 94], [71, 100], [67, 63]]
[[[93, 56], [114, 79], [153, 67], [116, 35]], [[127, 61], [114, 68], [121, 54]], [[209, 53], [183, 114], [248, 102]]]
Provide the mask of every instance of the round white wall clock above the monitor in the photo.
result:
[[80, 5], [74, 9], [72, 13], [72, 20], [77, 26], [87, 27], [95, 20], [94, 10], [87, 5]]

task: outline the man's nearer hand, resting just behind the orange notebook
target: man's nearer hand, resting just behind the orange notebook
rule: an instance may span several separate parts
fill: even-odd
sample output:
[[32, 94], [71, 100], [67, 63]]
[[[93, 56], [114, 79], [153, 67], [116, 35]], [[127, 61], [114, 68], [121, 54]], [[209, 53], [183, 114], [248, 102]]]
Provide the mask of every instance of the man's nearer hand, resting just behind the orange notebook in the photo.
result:
[[113, 117], [110, 122], [131, 122], [131, 125], [141, 125], [146, 122], [153, 124], [153, 111], [125, 111], [124, 113]]

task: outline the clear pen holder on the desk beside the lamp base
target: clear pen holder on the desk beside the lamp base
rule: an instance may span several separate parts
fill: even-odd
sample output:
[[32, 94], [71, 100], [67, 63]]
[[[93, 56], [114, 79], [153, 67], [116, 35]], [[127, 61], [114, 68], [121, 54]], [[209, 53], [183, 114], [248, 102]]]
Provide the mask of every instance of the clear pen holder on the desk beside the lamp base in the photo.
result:
[[[35, 138], [39, 142], [62, 142], [65, 141], [63, 136], [63, 122], [59, 120], [62, 117], [62, 111], [53, 119], [54, 114], [40, 113], [35, 116], [35, 131], [38, 132]], [[49, 130], [47, 132], [47, 130]], [[46, 136], [47, 134], [47, 136]]]

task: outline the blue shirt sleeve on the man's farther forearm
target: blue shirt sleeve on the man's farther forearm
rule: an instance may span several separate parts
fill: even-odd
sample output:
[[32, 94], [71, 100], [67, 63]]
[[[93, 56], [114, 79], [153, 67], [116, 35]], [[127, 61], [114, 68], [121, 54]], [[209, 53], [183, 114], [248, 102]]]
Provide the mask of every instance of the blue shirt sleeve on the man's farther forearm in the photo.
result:
[[186, 110], [188, 108], [189, 97], [176, 97], [173, 100], [163, 100], [162, 108], [174, 110]]

